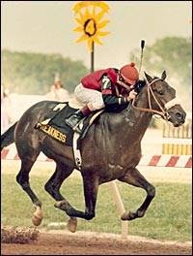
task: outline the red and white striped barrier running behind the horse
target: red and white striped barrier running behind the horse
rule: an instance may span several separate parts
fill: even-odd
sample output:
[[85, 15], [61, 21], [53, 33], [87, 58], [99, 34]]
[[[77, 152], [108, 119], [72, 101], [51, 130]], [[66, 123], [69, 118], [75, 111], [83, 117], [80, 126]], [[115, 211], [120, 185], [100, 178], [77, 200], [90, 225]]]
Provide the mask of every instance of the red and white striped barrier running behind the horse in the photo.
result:
[[[6, 147], [1, 151], [2, 160], [19, 160], [16, 153], [16, 148]], [[50, 162], [53, 161], [45, 156], [42, 152], [37, 161]], [[142, 155], [139, 162], [140, 166], [155, 166], [155, 167], [176, 167], [176, 168], [192, 168], [191, 155]]]

